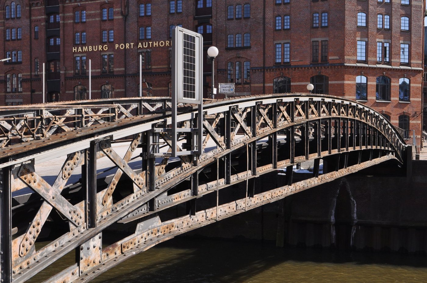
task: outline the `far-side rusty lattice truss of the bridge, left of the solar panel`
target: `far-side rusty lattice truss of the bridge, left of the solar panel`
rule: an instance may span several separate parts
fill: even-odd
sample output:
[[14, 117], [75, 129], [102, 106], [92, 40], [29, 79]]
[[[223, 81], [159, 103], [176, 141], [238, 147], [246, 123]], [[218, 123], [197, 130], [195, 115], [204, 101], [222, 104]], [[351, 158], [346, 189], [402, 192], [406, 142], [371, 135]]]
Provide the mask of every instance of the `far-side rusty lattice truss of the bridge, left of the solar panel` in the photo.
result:
[[0, 107], [0, 148], [168, 107], [168, 97], [94, 99]]

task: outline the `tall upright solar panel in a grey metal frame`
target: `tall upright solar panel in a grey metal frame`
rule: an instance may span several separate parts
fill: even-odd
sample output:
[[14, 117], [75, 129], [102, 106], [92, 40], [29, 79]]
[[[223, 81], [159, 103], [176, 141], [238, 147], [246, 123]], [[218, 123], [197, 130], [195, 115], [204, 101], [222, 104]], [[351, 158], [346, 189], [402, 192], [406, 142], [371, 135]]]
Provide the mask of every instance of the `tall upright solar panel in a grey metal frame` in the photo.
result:
[[176, 26], [172, 42], [173, 95], [176, 95], [177, 102], [200, 104], [203, 71], [202, 35]]

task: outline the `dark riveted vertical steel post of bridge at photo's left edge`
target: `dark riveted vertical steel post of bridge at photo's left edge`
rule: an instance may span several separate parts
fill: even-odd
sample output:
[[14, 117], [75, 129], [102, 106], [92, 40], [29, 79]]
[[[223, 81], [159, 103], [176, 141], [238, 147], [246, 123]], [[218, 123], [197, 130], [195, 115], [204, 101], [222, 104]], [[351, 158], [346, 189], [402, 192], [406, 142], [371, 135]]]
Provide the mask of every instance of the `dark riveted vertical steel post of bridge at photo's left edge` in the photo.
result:
[[12, 192], [9, 166], [0, 169], [0, 282], [12, 282]]

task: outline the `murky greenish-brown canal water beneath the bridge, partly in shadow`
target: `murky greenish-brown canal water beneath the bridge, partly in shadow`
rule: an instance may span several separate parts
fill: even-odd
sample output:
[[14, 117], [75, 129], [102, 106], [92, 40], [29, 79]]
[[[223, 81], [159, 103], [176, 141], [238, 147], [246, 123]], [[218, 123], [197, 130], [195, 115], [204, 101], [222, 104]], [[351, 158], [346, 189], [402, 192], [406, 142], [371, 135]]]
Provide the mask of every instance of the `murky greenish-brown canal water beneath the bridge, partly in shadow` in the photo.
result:
[[[56, 272], [72, 262], [74, 254], [67, 257], [57, 264]], [[42, 282], [54, 273], [42, 271], [30, 282]], [[178, 237], [137, 254], [91, 281], [224, 282], [426, 283], [427, 257], [328, 248], [276, 248], [273, 242]]]

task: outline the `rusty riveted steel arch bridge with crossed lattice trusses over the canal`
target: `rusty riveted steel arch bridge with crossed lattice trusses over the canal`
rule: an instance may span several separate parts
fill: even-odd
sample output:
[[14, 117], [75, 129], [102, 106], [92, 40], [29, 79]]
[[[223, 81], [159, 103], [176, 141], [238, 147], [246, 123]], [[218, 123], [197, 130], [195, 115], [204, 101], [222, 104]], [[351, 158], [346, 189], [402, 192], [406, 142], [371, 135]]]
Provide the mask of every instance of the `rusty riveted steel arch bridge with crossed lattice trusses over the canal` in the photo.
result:
[[[88, 282], [178, 234], [407, 158], [404, 139], [383, 116], [325, 95], [205, 101], [200, 145], [190, 130], [198, 123], [197, 108], [181, 105], [177, 150], [190, 154], [179, 158], [170, 156], [169, 98], [0, 108], [1, 282], [23, 283], [70, 251], [75, 263], [46, 282]], [[119, 141], [128, 148], [121, 155]], [[200, 156], [188, 150], [198, 146]], [[55, 160], [62, 165], [50, 165]], [[102, 167], [102, 160], [112, 166]], [[308, 160], [313, 176], [292, 178], [293, 165]], [[55, 171], [52, 180], [46, 167]], [[255, 189], [257, 176], [279, 168], [286, 184]], [[239, 183], [246, 188], [242, 196], [219, 200], [220, 191]], [[179, 205], [185, 213], [166, 213]], [[64, 232], [36, 248], [48, 222]], [[124, 223], [135, 223], [135, 231], [102, 248], [103, 231]]]

